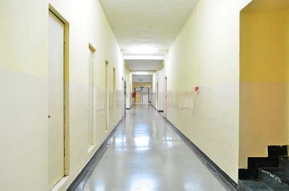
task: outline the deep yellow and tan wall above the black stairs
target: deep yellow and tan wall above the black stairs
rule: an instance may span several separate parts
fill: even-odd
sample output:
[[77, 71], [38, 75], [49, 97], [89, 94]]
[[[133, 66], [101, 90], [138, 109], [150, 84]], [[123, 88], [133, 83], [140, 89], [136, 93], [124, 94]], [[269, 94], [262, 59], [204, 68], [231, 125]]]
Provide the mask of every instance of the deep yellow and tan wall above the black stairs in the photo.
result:
[[242, 11], [239, 168], [247, 157], [268, 156], [268, 145], [288, 144], [288, 66], [288, 8]]

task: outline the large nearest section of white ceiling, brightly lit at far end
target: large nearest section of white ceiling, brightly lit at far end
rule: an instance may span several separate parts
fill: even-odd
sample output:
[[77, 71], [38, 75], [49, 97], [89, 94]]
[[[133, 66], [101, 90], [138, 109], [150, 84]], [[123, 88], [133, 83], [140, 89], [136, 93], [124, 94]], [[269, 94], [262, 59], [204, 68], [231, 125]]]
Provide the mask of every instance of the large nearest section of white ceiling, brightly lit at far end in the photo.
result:
[[101, 0], [124, 56], [164, 56], [197, 2]]

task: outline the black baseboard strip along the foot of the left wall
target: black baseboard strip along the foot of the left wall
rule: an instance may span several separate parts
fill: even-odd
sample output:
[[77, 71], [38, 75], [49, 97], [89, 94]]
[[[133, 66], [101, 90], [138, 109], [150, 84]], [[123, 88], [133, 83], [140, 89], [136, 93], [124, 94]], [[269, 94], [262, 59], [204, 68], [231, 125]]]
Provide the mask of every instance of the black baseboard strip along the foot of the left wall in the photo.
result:
[[72, 183], [69, 185], [67, 191], [72, 191], [77, 182], [81, 179], [82, 175], [85, 174], [85, 171], [90, 167], [92, 162], [99, 157], [99, 154], [101, 153], [102, 149], [105, 147], [105, 145], [108, 143], [112, 135], [117, 130], [117, 127], [119, 127], [119, 124], [123, 121], [123, 118], [119, 120], [119, 123], [116, 125], [116, 127], [113, 128], [113, 130], [109, 133], [109, 135], [106, 137], [106, 139], [102, 142], [101, 146], [97, 149], [97, 151], [93, 154], [93, 156], [88, 160], [85, 167], [80, 171], [80, 173], [75, 177], [75, 179], [72, 181]]

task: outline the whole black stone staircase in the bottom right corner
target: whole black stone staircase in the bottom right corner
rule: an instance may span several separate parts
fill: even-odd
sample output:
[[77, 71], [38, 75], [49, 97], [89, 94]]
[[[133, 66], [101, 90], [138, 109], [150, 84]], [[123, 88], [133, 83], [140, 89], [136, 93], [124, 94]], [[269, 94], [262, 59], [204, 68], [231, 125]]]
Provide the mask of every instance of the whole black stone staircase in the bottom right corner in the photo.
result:
[[[260, 165], [257, 164], [257, 168], [246, 169], [249, 172], [257, 169], [257, 178], [239, 179], [238, 191], [289, 191], [289, 157], [276, 157], [278, 158], [278, 165], [275, 167], [260, 168]], [[270, 165], [276, 165], [275, 162], [273, 163]], [[254, 174], [253, 176], [247, 175], [246, 177], [254, 177]]]

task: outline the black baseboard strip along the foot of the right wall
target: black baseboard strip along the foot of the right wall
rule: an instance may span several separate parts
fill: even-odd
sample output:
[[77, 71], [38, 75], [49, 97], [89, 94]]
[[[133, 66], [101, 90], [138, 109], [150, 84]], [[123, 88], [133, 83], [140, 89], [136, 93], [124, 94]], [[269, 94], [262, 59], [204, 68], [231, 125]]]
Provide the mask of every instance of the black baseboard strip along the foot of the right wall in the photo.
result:
[[189, 148], [197, 155], [204, 165], [212, 172], [213, 175], [221, 181], [222, 185], [230, 191], [237, 191], [237, 183], [227, 175], [213, 160], [211, 160], [196, 144], [191, 142], [177, 127], [175, 127], [168, 119], [170, 126], [183, 138]]

